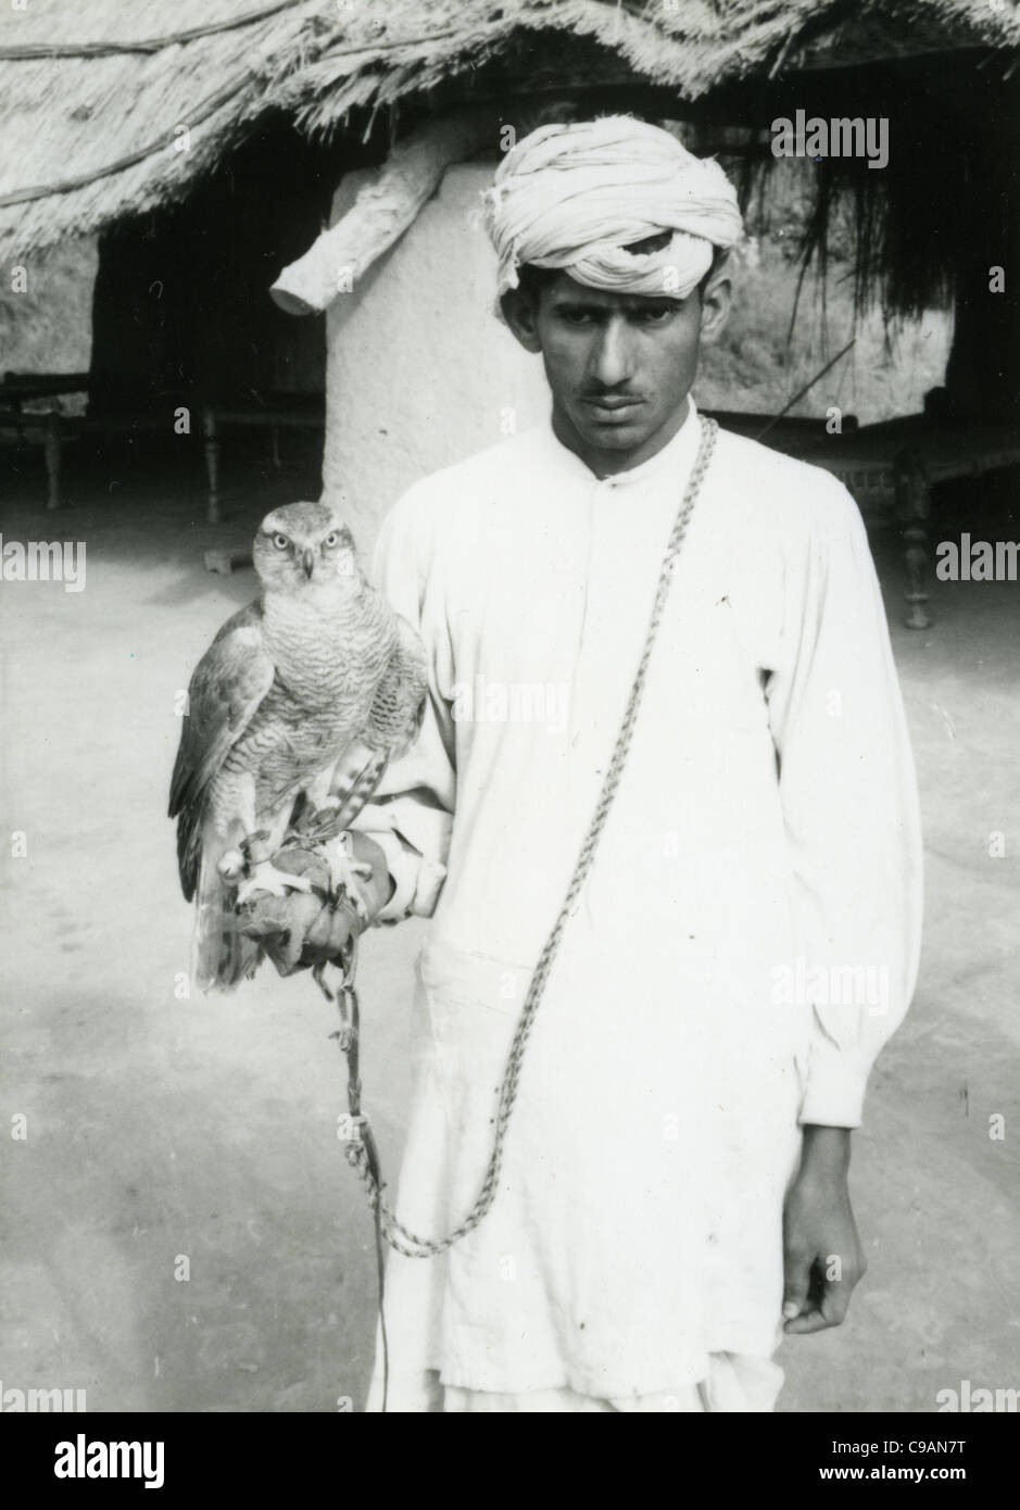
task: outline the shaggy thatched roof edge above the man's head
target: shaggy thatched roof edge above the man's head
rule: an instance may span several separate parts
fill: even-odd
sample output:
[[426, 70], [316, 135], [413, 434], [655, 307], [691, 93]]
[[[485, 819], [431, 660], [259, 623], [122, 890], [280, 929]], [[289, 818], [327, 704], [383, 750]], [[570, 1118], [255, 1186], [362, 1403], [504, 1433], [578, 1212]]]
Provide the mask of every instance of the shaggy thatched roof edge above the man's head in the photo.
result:
[[[528, 53], [528, 41], [533, 47]], [[1011, 0], [29, 0], [0, 6], [0, 254], [181, 198], [270, 110], [308, 134], [587, 42], [687, 101], [748, 76], [1020, 44]], [[516, 74], [515, 77], [521, 77]], [[522, 77], [522, 88], [527, 80]], [[364, 122], [362, 122], [364, 124]], [[190, 146], [177, 151], [177, 128]]]

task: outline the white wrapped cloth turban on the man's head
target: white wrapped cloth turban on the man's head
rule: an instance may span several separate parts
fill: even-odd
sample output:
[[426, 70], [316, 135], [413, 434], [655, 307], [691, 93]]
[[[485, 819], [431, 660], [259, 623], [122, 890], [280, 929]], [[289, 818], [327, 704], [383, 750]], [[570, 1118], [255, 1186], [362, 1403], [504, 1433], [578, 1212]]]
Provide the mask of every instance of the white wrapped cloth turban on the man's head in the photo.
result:
[[[483, 201], [499, 294], [533, 263], [588, 288], [687, 299], [712, 249], [742, 234], [720, 165], [629, 115], [539, 127], [507, 153]], [[673, 236], [661, 251], [625, 251], [664, 231]]]

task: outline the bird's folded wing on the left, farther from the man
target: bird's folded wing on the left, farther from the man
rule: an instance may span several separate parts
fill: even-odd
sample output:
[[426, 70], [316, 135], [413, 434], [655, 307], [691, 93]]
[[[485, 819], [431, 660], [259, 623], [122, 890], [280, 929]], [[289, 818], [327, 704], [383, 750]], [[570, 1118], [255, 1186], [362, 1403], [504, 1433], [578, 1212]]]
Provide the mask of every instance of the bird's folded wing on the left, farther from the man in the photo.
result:
[[273, 676], [255, 604], [226, 621], [195, 667], [169, 808], [172, 818], [180, 815], [178, 856], [186, 895], [195, 889], [208, 784], [252, 722]]

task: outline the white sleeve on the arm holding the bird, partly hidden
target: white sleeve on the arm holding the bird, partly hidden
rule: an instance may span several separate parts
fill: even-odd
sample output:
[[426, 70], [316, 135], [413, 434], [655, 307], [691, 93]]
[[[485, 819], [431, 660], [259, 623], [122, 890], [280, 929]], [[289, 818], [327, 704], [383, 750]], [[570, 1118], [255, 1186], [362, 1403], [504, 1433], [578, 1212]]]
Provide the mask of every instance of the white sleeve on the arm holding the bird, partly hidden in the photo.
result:
[[453, 651], [432, 562], [430, 509], [410, 489], [383, 522], [373, 577], [380, 592], [421, 634], [429, 655], [429, 698], [413, 747], [386, 770], [355, 827], [382, 847], [394, 894], [379, 914], [394, 923], [430, 917], [447, 874], [456, 797], [454, 729], [441, 687], [450, 684]]

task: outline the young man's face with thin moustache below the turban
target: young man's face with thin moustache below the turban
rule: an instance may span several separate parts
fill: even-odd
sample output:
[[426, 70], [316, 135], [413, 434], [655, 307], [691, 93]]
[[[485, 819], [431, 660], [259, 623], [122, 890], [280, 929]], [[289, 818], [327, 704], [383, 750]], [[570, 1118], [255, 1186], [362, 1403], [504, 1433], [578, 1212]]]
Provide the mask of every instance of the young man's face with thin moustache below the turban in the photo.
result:
[[687, 299], [605, 293], [567, 273], [504, 299], [513, 334], [542, 353], [557, 435], [604, 474], [637, 465], [671, 439], [687, 414], [700, 344], [718, 335], [727, 310], [721, 273]]

